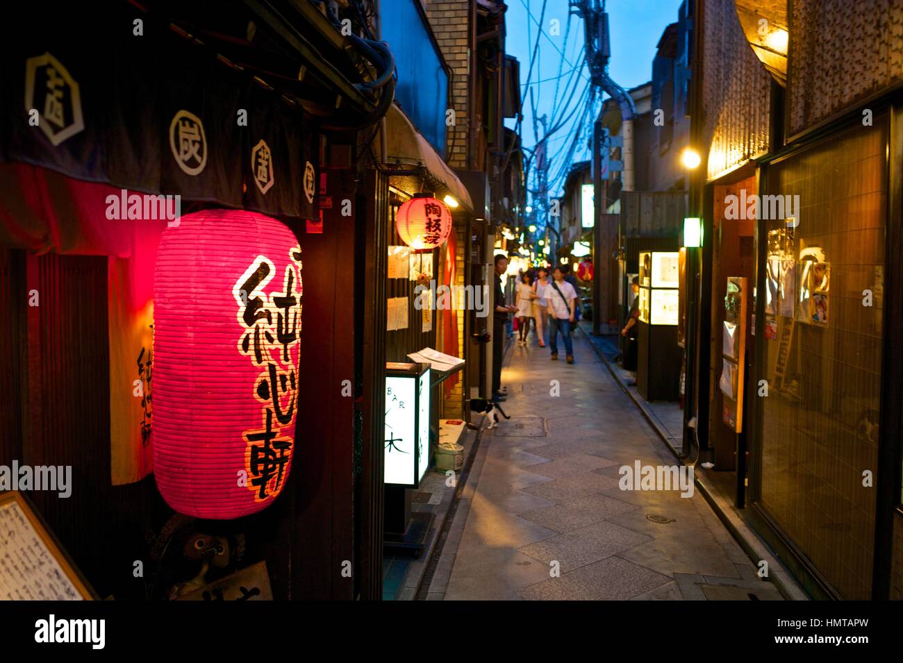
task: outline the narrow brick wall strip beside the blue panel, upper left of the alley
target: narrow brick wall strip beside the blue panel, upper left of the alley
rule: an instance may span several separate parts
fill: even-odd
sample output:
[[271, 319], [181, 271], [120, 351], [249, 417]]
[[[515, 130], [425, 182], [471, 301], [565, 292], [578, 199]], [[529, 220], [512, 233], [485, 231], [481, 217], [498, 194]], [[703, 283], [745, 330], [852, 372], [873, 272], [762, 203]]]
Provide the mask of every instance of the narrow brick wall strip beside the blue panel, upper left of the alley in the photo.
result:
[[426, 14], [442, 56], [452, 68], [451, 107], [455, 124], [448, 127], [446, 154], [452, 168], [467, 168], [467, 106], [470, 0], [427, 0]]

